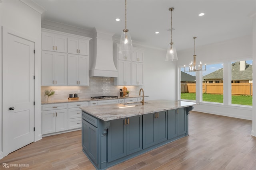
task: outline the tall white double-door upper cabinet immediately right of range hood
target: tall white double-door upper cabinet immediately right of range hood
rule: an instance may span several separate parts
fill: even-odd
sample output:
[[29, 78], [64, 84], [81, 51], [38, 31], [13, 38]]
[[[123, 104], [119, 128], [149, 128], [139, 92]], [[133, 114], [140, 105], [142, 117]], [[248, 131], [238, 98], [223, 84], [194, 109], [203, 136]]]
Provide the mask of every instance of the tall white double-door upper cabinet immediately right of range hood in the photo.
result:
[[118, 61], [118, 85], [132, 85], [132, 62]]

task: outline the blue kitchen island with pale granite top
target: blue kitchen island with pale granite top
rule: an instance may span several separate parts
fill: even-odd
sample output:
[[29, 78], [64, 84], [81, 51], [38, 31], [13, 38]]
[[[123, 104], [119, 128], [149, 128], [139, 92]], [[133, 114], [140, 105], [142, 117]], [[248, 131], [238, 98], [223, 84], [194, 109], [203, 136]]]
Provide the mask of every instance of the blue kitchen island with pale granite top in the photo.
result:
[[188, 136], [194, 102], [149, 100], [82, 109], [82, 148], [98, 169]]

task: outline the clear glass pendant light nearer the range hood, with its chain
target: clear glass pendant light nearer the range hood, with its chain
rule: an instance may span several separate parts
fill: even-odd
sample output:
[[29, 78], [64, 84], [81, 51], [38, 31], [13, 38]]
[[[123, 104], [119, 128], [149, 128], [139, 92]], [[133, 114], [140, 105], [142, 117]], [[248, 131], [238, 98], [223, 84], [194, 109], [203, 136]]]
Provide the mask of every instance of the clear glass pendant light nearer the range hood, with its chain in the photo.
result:
[[132, 38], [129, 30], [126, 28], [126, 0], [125, 0], [125, 29], [122, 31], [120, 39], [119, 53], [121, 54], [131, 54], [132, 53]]

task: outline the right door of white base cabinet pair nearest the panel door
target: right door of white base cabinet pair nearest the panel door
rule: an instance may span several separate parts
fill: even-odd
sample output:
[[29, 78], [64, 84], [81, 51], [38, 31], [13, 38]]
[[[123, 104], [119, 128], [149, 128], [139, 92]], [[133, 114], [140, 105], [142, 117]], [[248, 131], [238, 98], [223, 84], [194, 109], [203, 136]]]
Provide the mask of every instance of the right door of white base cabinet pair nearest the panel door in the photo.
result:
[[67, 130], [67, 109], [55, 111], [55, 132]]

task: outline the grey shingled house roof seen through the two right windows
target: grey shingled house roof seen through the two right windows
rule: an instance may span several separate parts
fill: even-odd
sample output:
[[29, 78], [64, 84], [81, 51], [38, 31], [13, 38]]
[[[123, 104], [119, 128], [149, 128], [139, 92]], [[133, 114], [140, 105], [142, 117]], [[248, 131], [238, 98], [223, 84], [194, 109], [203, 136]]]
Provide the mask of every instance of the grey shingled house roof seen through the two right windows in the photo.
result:
[[[223, 68], [203, 76], [203, 79], [223, 79]], [[232, 80], [252, 80], [252, 65], [245, 63], [245, 70], [240, 71], [240, 62], [233, 63]]]

